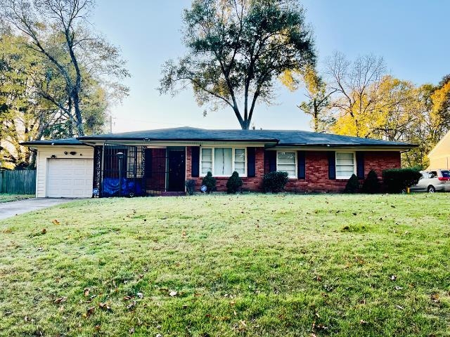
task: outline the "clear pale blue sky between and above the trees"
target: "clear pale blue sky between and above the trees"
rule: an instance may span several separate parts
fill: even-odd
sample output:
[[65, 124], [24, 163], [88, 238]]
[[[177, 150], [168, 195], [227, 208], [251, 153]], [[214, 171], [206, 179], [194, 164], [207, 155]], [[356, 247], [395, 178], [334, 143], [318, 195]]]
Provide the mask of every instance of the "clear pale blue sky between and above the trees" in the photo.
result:
[[[414, 84], [433, 83], [450, 73], [446, 0], [302, 0], [307, 23], [314, 29], [319, 70], [335, 51], [350, 60], [373, 53], [382, 56], [390, 74]], [[208, 112], [191, 89], [179, 95], [158, 93], [162, 64], [186, 53], [181, 17], [191, 0], [97, 0], [91, 22], [120, 46], [131, 77], [129, 96], [111, 108], [113, 132], [193, 126], [239, 128], [231, 108]], [[280, 86], [276, 103], [255, 108], [252, 124], [264, 129], [310, 130], [297, 108], [302, 90]]]

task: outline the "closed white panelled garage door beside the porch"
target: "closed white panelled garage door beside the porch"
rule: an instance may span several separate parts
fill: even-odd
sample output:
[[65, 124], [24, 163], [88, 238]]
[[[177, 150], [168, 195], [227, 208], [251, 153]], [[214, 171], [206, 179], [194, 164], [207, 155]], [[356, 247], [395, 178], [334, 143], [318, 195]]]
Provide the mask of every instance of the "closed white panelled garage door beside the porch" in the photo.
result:
[[46, 197], [92, 197], [93, 176], [94, 159], [48, 159]]

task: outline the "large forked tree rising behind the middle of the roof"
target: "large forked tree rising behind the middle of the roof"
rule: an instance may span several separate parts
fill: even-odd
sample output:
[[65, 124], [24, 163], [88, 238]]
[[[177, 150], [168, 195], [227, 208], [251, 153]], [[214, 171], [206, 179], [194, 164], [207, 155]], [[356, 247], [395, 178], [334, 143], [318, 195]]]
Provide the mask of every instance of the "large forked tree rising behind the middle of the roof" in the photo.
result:
[[160, 93], [191, 85], [199, 105], [231, 107], [243, 129], [258, 102], [273, 102], [281, 74], [315, 61], [297, 0], [193, 0], [183, 22], [188, 53], [163, 65]]

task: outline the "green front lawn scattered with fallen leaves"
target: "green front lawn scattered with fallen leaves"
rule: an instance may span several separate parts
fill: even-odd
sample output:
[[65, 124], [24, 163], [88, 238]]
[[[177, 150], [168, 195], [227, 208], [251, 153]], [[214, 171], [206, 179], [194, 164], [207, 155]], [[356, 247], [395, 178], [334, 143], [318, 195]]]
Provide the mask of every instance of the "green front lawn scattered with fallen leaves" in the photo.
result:
[[450, 194], [91, 199], [0, 222], [1, 336], [450, 336]]

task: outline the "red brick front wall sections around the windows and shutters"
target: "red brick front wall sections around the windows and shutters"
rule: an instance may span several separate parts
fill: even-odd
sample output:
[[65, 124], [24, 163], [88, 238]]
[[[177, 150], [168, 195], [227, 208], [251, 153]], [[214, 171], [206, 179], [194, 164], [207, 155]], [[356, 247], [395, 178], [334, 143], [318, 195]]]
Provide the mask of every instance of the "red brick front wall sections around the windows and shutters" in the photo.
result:
[[[400, 152], [396, 151], [367, 151], [364, 152], [364, 176], [368, 171], [375, 170], [378, 177], [385, 169], [396, 169], [401, 167]], [[196, 180], [199, 187], [202, 177], [193, 178], [191, 175], [192, 157], [191, 147], [186, 147], [186, 179]], [[257, 147], [255, 153], [255, 178], [242, 177], [243, 190], [262, 191], [262, 178], [265, 172], [269, 172], [269, 164], [264, 163], [264, 148]], [[326, 151], [306, 152], [306, 178], [290, 179], [285, 187], [288, 192], [342, 192], [347, 180], [328, 179], [328, 157]], [[226, 191], [228, 178], [217, 177], [217, 191]]]

